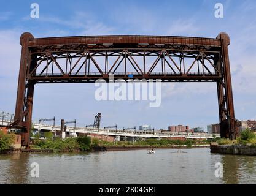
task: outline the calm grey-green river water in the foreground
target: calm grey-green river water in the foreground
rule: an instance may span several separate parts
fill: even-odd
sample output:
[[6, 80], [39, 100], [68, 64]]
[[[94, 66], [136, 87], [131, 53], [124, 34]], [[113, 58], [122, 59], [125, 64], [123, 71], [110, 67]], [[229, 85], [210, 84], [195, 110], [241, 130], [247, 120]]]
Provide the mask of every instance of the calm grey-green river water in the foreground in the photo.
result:
[[[256, 156], [211, 154], [209, 148], [147, 153], [1, 154], [0, 183], [256, 183]], [[33, 162], [39, 177], [31, 177]], [[223, 177], [216, 163], [223, 164]]]

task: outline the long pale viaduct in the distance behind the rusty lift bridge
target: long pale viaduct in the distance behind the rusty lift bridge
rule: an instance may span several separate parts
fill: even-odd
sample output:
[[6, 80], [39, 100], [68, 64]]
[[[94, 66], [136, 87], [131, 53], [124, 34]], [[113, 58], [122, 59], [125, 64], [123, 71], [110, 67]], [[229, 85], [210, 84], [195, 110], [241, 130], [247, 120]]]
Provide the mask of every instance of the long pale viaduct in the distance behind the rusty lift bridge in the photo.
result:
[[[1, 124], [8, 125], [10, 121], [3, 121]], [[39, 124], [33, 123], [34, 130], [41, 131], [56, 131], [60, 132], [61, 127], [49, 124]], [[161, 132], [161, 131], [148, 131], [141, 132], [138, 130], [123, 130], [123, 129], [103, 129], [103, 128], [93, 128], [93, 127], [67, 127], [66, 132], [75, 132], [76, 134], [101, 134], [109, 135], [114, 137], [144, 137], [144, 138], [174, 138], [174, 137], [185, 137], [190, 139], [211, 139], [214, 137], [220, 137], [220, 134], [208, 134], [206, 132], [202, 133], [186, 133], [186, 132]]]

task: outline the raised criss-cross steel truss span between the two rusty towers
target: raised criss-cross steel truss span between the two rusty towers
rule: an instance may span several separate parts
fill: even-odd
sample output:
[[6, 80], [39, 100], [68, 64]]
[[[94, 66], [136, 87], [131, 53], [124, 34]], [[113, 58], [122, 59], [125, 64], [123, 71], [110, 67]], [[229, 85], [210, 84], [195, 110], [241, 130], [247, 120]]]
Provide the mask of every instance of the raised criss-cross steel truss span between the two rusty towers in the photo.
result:
[[[56, 44], [52, 39], [29, 40], [29, 61], [34, 63], [33, 67], [28, 67], [28, 79], [36, 83], [87, 83], [99, 78], [108, 80], [109, 75], [113, 75], [114, 80], [128, 80], [128, 74], [132, 74], [134, 79], [167, 82], [219, 81], [222, 78], [221, 47], [217, 44], [219, 40], [214, 42], [212, 39], [212, 45], [208, 39], [204, 45], [192, 45], [190, 42], [200, 43], [200, 39], [196, 38], [183, 38], [180, 44], [178, 41], [176, 44], [170, 41], [122, 43], [117, 40], [125, 40], [125, 36], [110, 36], [104, 37], [104, 43], [99, 42], [100, 37], [95, 36], [98, 42], [93, 43], [76, 43], [73, 40], [75, 44], [61, 44], [60, 41]], [[132, 40], [134, 37], [127, 39]], [[38, 46], [36, 42], [44, 44]], [[219, 66], [216, 62], [219, 62]]]

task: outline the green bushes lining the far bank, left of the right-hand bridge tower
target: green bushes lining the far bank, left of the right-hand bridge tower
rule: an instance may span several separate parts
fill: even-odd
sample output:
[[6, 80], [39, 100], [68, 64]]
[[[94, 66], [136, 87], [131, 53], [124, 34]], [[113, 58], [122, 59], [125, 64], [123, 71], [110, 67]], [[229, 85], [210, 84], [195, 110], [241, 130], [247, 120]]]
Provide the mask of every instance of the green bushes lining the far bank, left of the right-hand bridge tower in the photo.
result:
[[[40, 134], [31, 134], [33, 140], [31, 140], [31, 149], [53, 149], [57, 152], [74, 152], [74, 151], [91, 151], [93, 146], [149, 146], [149, 147], [179, 147], [187, 146], [192, 148], [192, 145], [205, 145], [212, 141], [217, 141], [219, 138], [213, 138], [212, 140], [169, 140], [162, 138], [160, 140], [156, 138], [150, 138], [147, 140], [136, 141], [104, 141], [97, 138], [91, 138], [88, 136], [76, 137], [76, 138], [55, 138], [53, 139], [52, 132], [44, 132], [44, 138], [40, 138]], [[3, 134], [0, 132], [0, 150], [12, 149], [14, 144], [15, 134]]]

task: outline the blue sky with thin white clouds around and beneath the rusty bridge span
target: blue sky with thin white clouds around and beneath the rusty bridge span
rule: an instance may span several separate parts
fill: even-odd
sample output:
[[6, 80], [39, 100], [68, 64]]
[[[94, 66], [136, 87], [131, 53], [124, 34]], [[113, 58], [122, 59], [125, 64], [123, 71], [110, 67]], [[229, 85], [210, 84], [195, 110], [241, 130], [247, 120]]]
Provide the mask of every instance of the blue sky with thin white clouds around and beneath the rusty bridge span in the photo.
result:
[[[31, 3], [39, 4], [39, 18], [31, 18]], [[221, 2], [224, 18], [214, 17]], [[230, 35], [230, 63], [235, 115], [256, 119], [256, 2], [255, 1], [7, 1], [0, 7], [0, 111], [14, 112], [20, 63], [20, 35], [34, 37], [106, 34], [216, 37]], [[217, 123], [215, 83], [166, 83], [161, 106], [149, 102], [97, 102], [93, 84], [36, 85], [33, 119], [56, 116], [102, 125], [133, 127], [151, 124], [190, 127]]]

